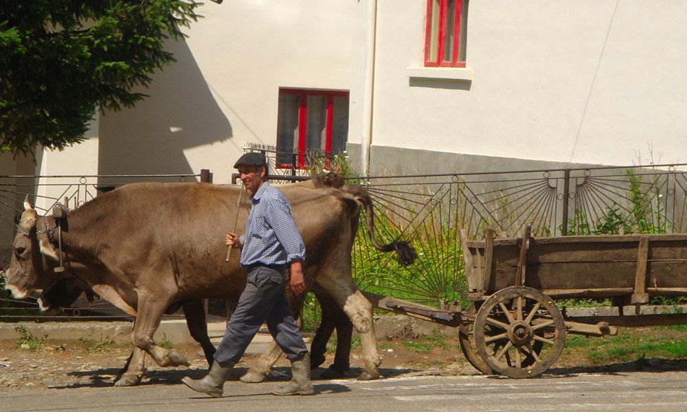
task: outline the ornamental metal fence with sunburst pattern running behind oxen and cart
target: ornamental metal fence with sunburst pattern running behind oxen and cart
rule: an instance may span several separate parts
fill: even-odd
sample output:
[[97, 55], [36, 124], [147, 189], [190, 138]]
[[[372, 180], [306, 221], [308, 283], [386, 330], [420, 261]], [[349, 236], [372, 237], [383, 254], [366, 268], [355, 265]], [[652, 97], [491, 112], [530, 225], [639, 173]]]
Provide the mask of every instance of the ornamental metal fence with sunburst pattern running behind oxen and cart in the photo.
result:
[[[274, 168], [278, 152], [272, 148], [252, 145], [245, 150], [265, 152], [272, 181], [306, 179], [299, 176], [305, 170]], [[325, 164], [331, 160], [324, 158]], [[323, 158], [317, 161], [322, 165]], [[58, 178], [72, 180], [52, 183]], [[211, 181], [212, 175], [205, 170], [199, 175], [0, 176], [0, 239], [11, 241], [13, 216], [21, 211], [25, 194], [47, 211], [65, 196], [70, 207], [78, 207], [99, 191], [128, 181], [191, 179]], [[499, 237], [510, 237], [528, 224], [533, 236], [687, 232], [685, 163], [349, 180], [364, 185], [373, 198], [376, 236], [385, 242], [409, 240], [419, 252], [416, 264], [403, 267], [389, 253], [374, 252], [361, 232], [354, 246], [354, 277], [363, 289], [425, 303], [442, 305], [464, 294], [460, 229], [477, 239], [488, 227]], [[0, 265], [7, 264], [8, 246]]]

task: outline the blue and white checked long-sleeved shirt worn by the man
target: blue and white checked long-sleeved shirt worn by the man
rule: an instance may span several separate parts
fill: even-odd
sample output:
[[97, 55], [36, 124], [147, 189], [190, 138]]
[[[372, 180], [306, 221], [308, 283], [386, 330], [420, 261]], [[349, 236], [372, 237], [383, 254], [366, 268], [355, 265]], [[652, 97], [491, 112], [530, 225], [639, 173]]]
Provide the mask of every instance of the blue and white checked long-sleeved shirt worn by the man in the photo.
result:
[[264, 182], [251, 198], [246, 233], [241, 236], [243, 266], [287, 264], [305, 259], [305, 245], [291, 216], [291, 205], [282, 192]]

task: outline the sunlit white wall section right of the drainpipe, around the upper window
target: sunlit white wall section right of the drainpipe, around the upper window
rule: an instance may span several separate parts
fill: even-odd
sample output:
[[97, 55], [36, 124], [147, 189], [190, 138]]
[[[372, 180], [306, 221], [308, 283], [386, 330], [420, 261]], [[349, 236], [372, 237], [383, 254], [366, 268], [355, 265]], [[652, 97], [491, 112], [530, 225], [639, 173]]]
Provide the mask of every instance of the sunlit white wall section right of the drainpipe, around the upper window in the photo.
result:
[[473, 0], [471, 81], [408, 77], [425, 7], [379, 0], [373, 146], [627, 164], [650, 145], [687, 160], [687, 2]]

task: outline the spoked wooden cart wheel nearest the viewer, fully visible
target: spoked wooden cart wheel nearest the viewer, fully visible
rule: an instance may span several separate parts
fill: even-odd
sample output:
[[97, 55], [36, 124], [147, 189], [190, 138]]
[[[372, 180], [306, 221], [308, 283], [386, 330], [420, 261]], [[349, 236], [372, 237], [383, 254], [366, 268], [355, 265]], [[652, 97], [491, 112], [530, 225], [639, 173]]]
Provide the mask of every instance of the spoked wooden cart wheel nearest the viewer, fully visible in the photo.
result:
[[493, 372], [531, 378], [561, 354], [565, 321], [553, 301], [532, 288], [511, 286], [491, 295], [474, 326], [475, 346]]

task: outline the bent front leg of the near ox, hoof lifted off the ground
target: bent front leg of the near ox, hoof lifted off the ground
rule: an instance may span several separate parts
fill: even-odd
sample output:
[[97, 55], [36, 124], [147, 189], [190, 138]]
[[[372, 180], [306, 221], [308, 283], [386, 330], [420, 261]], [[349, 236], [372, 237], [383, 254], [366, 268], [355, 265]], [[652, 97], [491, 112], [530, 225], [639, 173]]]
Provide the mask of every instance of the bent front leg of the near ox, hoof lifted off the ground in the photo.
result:
[[155, 330], [160, 324], [162, 315], [165, 312], [170, 299], [160, 299], [152, 297], [144, 291], [139, 291], [138, 312], [134, 323], [131, 341], [134, 347], [144, 350], [153, 358], [157, 365], [168, 366], [188, 366], [188, 360], [182, 354], [173, 350], [165, 349], [153, 341]]

